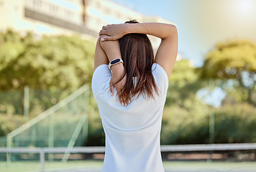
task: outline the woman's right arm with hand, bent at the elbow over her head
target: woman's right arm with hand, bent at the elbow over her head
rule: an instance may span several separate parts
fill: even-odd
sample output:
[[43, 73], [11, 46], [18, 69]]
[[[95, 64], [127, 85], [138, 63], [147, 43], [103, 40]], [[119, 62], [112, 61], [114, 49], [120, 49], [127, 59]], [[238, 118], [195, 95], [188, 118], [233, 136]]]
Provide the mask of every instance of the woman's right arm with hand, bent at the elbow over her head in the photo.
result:
[[170, 78], [170, 74], [175, 64], [178, 53], [178, 32], [173, 24], [162, 23], [138, 23], [138, 24], [111, 24], [101, 29], [101, 34], [109, 37], [103, 37], [101, 41], [116, 40], [124, 34], [138, 33], [150, 34], [162, 39], [160, 47], [157, 49], [155, 62], [161, 65]]

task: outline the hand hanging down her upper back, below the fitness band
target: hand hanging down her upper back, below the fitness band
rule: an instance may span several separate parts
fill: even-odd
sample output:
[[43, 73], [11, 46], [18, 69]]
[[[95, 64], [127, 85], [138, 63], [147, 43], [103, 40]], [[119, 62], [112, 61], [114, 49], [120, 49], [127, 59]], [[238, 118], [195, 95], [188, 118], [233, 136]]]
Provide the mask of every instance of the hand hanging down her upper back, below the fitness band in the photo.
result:
[[[122, 64], [114, 65], [111, 67], [111, 70], [112, 70], [112, 75], [109, 82], [111, 95], [114, 95], [114, 87], [116, 87], [116, 92], [119, 96], [119, 102], [122, 105], [127, 106], [130, 100], [123, 100], [121, 97], [122, 89], [124, 88], [124, 85], [127, 80], [127, 76], [124, 75], [124, 66]], [[120, 80], [121, 78], [122, 80]]]

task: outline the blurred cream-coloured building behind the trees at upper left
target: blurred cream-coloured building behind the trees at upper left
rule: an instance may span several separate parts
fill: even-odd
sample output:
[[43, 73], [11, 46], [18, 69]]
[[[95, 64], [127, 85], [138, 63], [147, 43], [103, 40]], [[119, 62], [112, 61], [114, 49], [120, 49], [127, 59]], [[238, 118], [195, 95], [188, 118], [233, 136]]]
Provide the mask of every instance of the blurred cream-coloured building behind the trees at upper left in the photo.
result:
[[[103, 25], [139, 22], [165, 22], [145, 16], [110, 0], [0, 0], [0, 32], [11, 28], [20, 33], [74, 34], [96, 39]], [[152, 39], [153, 47], [159, 40]]]

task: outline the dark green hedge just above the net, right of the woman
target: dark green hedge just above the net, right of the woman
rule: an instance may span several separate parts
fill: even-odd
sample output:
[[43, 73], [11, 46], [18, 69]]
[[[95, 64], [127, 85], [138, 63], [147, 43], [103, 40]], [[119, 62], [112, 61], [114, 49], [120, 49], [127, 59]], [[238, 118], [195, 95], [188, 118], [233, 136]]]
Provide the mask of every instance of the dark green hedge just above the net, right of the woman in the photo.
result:
[[[214, 143], [255, 143], [256, 108], [248, 103], [214, 109]], [[161, 144], [208, 144], [209, 110], [166, 107]]]

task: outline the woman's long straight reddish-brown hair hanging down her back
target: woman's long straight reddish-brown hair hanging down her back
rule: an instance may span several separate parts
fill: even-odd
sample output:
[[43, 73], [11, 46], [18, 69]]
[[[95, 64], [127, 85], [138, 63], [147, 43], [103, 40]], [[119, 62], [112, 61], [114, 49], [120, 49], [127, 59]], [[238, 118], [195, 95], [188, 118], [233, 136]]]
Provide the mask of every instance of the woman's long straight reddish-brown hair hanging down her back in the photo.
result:
[[[125, 23], [138, 22], [132, 20]], [[124, 75], [127, 75], [119, 100], [127, 102], [135, 95], [154, 98], [154, 92], [158, 95], [158, 90], [152, 75], [152, 65], [155, 59], [150, 39], [146, 34], [125, 34], [119, 39], [119, 45], [124, 61]]]

